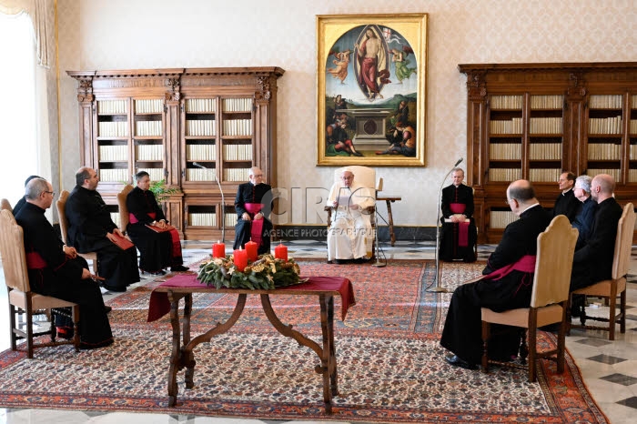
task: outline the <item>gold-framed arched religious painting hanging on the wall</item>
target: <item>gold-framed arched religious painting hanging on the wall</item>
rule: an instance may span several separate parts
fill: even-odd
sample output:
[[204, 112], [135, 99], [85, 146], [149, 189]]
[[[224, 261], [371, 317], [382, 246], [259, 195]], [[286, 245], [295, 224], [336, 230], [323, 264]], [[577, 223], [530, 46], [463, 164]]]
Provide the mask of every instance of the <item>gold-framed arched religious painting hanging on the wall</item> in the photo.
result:
[[317, 16], [318, 165], [425, 165], [427, 17]]

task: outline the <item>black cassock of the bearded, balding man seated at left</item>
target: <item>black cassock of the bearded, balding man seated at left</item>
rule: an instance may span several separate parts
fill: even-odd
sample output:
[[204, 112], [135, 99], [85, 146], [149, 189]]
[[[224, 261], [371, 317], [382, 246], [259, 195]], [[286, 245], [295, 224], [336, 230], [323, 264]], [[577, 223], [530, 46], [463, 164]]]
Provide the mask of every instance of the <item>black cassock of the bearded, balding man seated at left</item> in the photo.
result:
[[96, 252], [103, 286], [113, 291], [126, 291], [126, 286], [139, 281], [135, 247], [122, 250], [106, 238], [117, 227], [106, 203], [96, 190], [76, 186], [66, 200], [68, 245], [80, 253]]

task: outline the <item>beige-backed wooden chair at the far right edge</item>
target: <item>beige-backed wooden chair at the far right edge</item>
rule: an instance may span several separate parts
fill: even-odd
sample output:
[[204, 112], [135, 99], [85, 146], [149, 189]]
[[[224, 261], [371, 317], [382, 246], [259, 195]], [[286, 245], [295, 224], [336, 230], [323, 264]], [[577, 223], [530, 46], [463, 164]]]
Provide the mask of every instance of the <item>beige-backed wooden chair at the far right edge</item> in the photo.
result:
[[[591, 317], [586, 315], [586, 308], [580, 317], [581, 324], [571, 324], [571, 309], [569, 308], [569, 332], [571, 328], [589, 328], [608, 331], [608, 339], [615, 339], [615, 324], [620, 325], [620, 332], [626, 332], [626, 275], [629, 271], [632, 249], [632, 231], [635, 227], [635, 209], [632, 203], [623, 207], [622, 217], [617, 223], [617, 236], [615, 237], [615, 251], [612, 259], [611, 279], [605, 279], [586, 288], [579, 288], [571, 293], [569, 306], [572, 305], [573, 295], [592, 296], [604, 298], [608, 301], [608, 318]], [[617, 296], [620, 297], [620, 313], [615, 315], [617, 308]], [[587, 326], [586, 320], [607, 322], [608, 327]]]

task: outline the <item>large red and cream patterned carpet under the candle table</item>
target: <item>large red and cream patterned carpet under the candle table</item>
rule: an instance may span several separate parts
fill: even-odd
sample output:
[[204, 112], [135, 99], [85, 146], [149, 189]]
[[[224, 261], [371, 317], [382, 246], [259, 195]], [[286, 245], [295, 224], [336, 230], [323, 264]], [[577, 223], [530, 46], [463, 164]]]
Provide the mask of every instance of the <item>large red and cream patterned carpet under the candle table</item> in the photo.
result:
[[[235, 328], [197, 347], [196, 386], [185, 389], [180, 372], [177, 407], [167, 408], [171, 331], [167, 318], [146, 322], [149, 293], [160, 280], [111, 302], [111, 348], [43, 348], [33, 360], [23, 352], [0, 354], [0, 406], [367, 422], [607, 422], [568, 355], [564, 374], [542, 362], [532, 384], [521, 370], [491, 368], [485, 375], [447, 365], [438, 339], [450, 294], [427, 291], [432, 263], [299, 262], [305, 275], [347, 276], [356, 293], [357, 305], [335, 323], [340, 396], [332, 417], [323, 412], [316, 354], [272, 329], [256, 296], [248, 297]], [[443, 264], [440, 286], [451, 289], [481, 268]], [[223, 321], [235, 298], [197, 296], [192, 334]], [[306, 300], [274, 297], [272, 304], [284, 323], [317, 339], [319, 307]], [[554, 341], [543, 335], [541, 345]]]

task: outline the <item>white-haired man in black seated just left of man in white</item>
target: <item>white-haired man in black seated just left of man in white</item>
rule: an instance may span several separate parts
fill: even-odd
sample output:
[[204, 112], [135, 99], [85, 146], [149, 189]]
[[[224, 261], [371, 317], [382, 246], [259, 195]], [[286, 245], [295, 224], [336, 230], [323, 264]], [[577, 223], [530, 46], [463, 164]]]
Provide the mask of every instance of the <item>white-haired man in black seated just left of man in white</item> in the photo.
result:
[[245, 248], [246, 243], [252, 240], [258, 244], [258, 254], [263, 255], [270, 251], [272, 187], [263, 182], [263, 171], [258, 167], [250, 168], [248, 178], [247, 183], [238, 187], [235, 198], [238, 219], [233, 248]]

